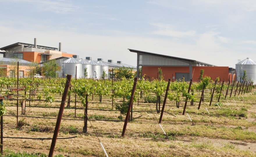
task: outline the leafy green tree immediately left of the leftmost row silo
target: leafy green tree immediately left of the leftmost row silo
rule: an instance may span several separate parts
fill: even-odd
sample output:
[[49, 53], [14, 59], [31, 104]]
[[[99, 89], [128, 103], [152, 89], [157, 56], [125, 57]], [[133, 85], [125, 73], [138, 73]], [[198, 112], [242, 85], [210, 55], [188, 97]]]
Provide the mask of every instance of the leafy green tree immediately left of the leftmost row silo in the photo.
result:
[[[56, 73], [56, 71], [58, 71], [59, 68], [60, 68], [60, 66], [58, 66], [55, 59], [49, 60], [49, 61], [43, 63], [42, 74], [46, 77], [54, 77], [55, 75], [58, 74], [58, 73]], [[56, 69], [56, 71], [55, 71], [55, 69]]]

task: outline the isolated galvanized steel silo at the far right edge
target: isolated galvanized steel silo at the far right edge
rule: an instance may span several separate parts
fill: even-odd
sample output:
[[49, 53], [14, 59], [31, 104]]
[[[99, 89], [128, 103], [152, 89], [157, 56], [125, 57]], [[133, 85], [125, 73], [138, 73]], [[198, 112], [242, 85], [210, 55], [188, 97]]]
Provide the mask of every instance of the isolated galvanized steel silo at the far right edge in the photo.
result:
[[236, 64], [236, 75], [237, 75], [237, 81], [242, 81], [243, 77], [243, 70], [246, 71], [247, 75], [247, 81], [250, 79], [254, 82], [256, 81], [256, 62], [246, 58], [243, 61], [240, 61]]

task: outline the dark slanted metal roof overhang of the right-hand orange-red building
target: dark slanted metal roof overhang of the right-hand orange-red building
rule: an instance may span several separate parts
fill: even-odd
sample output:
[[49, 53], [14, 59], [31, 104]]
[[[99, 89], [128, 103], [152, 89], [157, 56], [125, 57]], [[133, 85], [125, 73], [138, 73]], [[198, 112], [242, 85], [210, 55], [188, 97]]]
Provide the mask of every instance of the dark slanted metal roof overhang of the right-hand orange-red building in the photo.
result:
[[[204, 62], [200, 62], [200, 61], [196, 61], [196, 60], [192, 60], [192, 59], [185, 59], [185, 58], [167, 56], [167, 55], [163, 55], [163, 54], [156, 54], [156, 53], [139, 51], [139, 50], [132, 50], [132, 49], [128, 49], [128, 50], [130, 52], [140, 53], [140, 55], [145, 54], [145, 55], [148, 55], [148, 56], [156, 56], [156, 57], [161, 57], [161, 58], [166, 58], [166, 59], [175, 59], [175, 60], [179, 60], [179, 61], [185, 61], [186, 63], [193, 62], [193, 63], [196, 63], [196, 64], [202, 64], [202, 65], [206, 65], [206, 66], [215, 66], [215, 65], [211, 65], [211, 64], [208, 64], [208, 63], [204, 63]], [[152, 65], [150, 65], [150, 66], [152, 66]]]

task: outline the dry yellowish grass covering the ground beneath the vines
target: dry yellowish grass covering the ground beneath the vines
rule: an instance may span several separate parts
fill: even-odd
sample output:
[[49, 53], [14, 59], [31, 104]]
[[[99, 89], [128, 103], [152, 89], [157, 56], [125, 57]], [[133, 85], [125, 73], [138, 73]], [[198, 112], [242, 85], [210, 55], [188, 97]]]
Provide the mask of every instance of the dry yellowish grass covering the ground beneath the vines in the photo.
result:
[[[240, 97], [240, 96], [239, 96]], [[240, 97], [241, 98], [241, 97]], [[60, 97], [56, 97], [56, 101]], [[255, 105], [256, 96], [244, 97], [244, 100], [234, 103], [233, 98], [222, 101], [221, 109], [218, 106], [202, 104], [200, 110], [195, 106], [187, 107], [195, 125], [187, 115], [182, 116], [183, 107], [166, 106], [166, 111], [174, 114], [176, 117], [164, 113], [162, 126], [170, 139], [164, 138], [162, 130], [157, 124], [160, 114], [154, 112], [133, 112], [133, 117], [143, 115], [127, 125], [125, 137], [121, 137], [123, 122], [109, 121], [91, 121], [96, 133], [99, 136], [109, 156], [255, 156], [255, 149], [239, 149], [235, 144], [228, 140], [237, 141], [237, 143], [256, 143], [256, 116]], [[71, 99], [73, 101], [73, 98]], [[112, 109], [111, 100], [104, 100], [110, 104], [89, 103], [88, 108]], [[116, 100], [118, 101], [118, 100]], [[233, 101], [233, 102], [232, 102]], [[90, 99], [92, 102], [92, 98]], [[5, 105], [15, 105], [15, 101], [5, 101]], [[142, 100], [140, 103], [144, 103]], [[206, 104], [209, 104], [205, 100]], [[31, 106], [59, 106], [60, 103], [46, 104], [40, 102], [31, 102]], [[144, 103], [147, 104], [147, 103]], [[214, 104], [214, 103], [213, 103]], [[155, 106], [151, 104], [155, 110]], [[168, 102], [167, 105], [176, 105]], [[182, 104], [180, 104], [182, 105]], [[70, 104], [74, 107], [74, 103]], [[77, 107], [81, 107], [77, 103]], [[210, 112], [206, 111], [205, 107]], [[255, 107], [255, 108], [254, 108]], [[16, 107], [6, 107], [8, 115], [16, 114]], [[115, 108], [114, 108], [115, 109]], [[148, 105], [133, 105], [133, 110], [150, 111]], [[21, 108], [19, 107], [19, 114]], [[83, 119], [83, 110], [76, 110], [76, 118]], [[26, 116], [51, 117], [57, 118], [58, 108], [38, 108], [26, 107]], [[118, 120], [120, 112], [88, 110], [88, 116], [93, 119]], [[65, 109], [63, 118], [74, 119], [74, 109]], [[248, 121], [251, 119], [251, 121]], [[5, 137], [47, 137], [51, 138], [55, 127], [56, 119], [40, 119], [30, 117], [19, 117], [21, 126], [16, 129], [16, 117], [4, 116]], [[83, 134], [83, 121], [62, 120], [58, 137], [78, 136], [77, 138], [57, 140], [55, 154], [70, 154], [71, 156], [104, 156], [90, 123], [88, 122], [88, 133]], [[209, 138], [209, 141], [189, 140], [190, 138]], [[212, 140], [226, 140], [222, 145], [212, 143]], [[51, 140], [29, 140], [29, 139], [8, 139], [4, 138], [3, 147], [14, 151], [43, 152], [48, 154]], [[256, 145], [255, 145], [256, 146]]]

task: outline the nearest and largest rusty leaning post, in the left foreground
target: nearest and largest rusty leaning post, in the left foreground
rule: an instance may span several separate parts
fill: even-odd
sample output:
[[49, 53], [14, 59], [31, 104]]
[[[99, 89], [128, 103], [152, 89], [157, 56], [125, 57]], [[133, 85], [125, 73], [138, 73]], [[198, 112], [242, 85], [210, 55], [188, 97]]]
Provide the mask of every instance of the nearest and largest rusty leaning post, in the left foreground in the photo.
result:
[[50, 147], [50, 151], [49, 151], [48, 157], [52, 157], [53, 156], [56, 140], [57, 140], [57, 137], [58, 137], [58, 132], [59, 132], [60, 125], [61, 125], [61, 119], [62, 119], [62, 115], [63, 115], [63, 110], [64, 110], [65, 103], [66, 103], [66, 100], [67, 100], [67, 93], [68, 93], [68, 90], [69, 90], [71, 78], [72, 78], [72, 75], [67, 74], [67, 80], [66, 80], [63, 96], [62, 96], [62, 99], [61, 99], [61, 106], [60, 106], [60, 110], [59, 110], [56, 126], [55, 126], [55, 129], [54, 129], [54, 134], [53, 134], [53, 137], [52, 137], [51, 147]]

